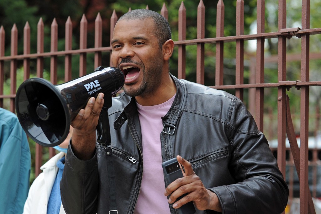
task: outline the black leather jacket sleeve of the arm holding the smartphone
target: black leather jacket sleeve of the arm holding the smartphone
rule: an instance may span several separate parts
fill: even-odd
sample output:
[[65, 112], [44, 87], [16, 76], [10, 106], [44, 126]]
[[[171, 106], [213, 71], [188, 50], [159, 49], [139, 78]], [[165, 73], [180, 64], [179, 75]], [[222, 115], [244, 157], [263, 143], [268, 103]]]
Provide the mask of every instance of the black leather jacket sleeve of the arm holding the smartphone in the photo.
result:
[[237, 183], [210, 190], [218, 196], [223, 213], [281, 213], [289, 190], [265, 136], [237, 98], [231, 103], [229, 120], [230, 172]]

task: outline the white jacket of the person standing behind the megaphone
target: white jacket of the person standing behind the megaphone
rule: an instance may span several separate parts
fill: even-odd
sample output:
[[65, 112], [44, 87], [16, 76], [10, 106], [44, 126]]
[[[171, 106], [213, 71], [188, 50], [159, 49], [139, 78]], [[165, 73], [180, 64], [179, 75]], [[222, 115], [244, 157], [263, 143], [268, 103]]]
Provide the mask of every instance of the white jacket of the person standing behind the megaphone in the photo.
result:
[[[23, 207], [23, 214], [47, 214], [48, 200], [58, 172], [56, 164], [64, 155], [65, 153], [60, 152], [40, 167], [43, 172], [30, 186], [28, 198]], [[59, 214], [65, 214], [62, 204]]]

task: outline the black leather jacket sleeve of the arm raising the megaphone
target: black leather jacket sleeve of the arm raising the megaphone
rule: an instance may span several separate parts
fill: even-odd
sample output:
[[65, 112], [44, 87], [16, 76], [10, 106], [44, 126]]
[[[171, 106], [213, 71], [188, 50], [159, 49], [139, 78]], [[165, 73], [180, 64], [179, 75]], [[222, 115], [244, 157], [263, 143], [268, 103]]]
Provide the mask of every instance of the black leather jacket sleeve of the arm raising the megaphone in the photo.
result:
[[70, 146], [60, 182], [61, 201], [67, 214], [97, 212], [98, 165], [96, 154], [88, 161], [78, 159]]

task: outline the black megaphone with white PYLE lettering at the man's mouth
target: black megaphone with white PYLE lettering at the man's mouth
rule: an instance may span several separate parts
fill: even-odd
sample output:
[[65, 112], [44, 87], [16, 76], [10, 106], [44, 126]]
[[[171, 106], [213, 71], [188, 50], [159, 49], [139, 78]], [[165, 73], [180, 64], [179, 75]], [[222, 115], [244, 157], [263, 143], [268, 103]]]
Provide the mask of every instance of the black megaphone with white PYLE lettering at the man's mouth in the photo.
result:
[[118, 68], [101, 66], [91, 74], [61, 85], [52, 85], [42, 78], [30, 78], [17, 90], [17, 117], [24, 131], [36, 143], [57, 146], [67, 138], [70, 122], [90, 97], [104, 93], [104, 106], [109, 108], [111, 96], [123, 87], [124, 81], [124, 74]]

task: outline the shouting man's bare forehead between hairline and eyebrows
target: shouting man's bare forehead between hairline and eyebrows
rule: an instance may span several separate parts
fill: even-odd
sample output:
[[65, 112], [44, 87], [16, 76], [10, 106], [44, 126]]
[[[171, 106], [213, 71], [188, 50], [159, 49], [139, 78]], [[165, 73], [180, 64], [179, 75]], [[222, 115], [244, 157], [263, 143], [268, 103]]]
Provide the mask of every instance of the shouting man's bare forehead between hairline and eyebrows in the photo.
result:
[[147, 18], [144, 20], [120, 20], [116, 23], [113, 32], [113, 40], [138, 36], [145, 36], [148, 38], [155, 37], [154, 21], [152, 20], [152, 18]]

